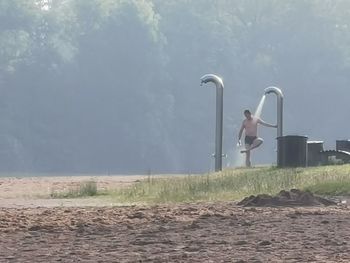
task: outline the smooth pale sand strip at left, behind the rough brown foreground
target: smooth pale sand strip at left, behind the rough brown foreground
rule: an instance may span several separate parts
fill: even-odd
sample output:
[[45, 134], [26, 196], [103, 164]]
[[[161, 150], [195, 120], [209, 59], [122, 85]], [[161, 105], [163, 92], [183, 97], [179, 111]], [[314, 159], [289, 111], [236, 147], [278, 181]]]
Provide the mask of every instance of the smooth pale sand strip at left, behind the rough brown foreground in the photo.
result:
[[55, 207], [55, 206], [106, 206], [117, 205], [101, 198], [51, 198], [52, 193], [79, 187], [83, 182], [94, 181], [99, 191], [113, 190], [145, 179], [144, 175], [81, 175], [0, 177], [0, 207]]

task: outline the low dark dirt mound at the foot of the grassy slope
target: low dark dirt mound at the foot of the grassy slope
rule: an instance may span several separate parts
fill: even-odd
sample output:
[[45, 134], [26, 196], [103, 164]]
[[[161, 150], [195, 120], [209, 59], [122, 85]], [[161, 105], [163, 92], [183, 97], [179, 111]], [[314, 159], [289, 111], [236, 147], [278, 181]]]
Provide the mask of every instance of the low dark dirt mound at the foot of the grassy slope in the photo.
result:
[[282, 190], [276, 196], [267, 194], [251, 195], [238, 203], [241, 206], [330, 206], [337, 203], [313, 195], [309, 191]]

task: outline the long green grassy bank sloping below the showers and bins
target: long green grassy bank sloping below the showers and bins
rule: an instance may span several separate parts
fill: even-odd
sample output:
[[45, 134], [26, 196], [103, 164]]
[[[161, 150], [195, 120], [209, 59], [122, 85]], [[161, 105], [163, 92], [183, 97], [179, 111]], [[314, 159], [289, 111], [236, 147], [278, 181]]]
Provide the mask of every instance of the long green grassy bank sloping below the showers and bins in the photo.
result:
[[118, 202], [177, 203], [239, 200], [298, 188], [321, 195], [350, 194], [350, 165], [311, 168], [228, 169], [220, 173], [154, 178], [109, 194]]

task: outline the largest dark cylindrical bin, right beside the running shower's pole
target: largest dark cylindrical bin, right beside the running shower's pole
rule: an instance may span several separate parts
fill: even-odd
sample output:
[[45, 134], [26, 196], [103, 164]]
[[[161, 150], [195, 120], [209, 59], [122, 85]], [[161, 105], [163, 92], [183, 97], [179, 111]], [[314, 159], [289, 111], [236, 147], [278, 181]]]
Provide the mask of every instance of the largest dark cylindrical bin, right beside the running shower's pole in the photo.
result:
[[307, 166], [307, 137], [286, 135], [277, 138], [278, 167]]

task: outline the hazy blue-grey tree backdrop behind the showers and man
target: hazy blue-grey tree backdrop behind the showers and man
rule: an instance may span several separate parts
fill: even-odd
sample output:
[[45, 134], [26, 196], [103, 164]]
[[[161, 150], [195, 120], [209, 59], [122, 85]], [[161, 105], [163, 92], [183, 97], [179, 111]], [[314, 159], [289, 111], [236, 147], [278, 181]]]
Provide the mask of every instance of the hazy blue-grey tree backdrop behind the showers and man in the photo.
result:
[[[349, 22], [348, 0], [0, 0], [0, 171], [212, 170], [206, 73], [225, 84], [224, 153], [270, 85], [284, 133], [334, 149], [350, 137]], [[275, 163], [276, 130], [260, 135], [253, 163]]]

